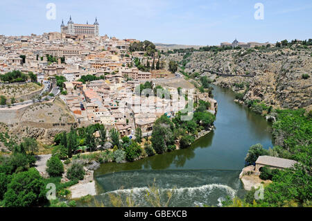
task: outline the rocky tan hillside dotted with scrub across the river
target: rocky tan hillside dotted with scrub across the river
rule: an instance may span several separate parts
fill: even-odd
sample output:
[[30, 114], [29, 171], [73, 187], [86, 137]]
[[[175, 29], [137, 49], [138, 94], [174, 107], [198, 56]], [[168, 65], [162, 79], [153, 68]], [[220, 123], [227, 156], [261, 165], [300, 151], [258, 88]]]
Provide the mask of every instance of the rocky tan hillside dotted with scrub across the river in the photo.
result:
[[[291, 48], [240, 49], [193, 52], [166, 57], [180, 64], [189, 76], [209, 76], [216, 85], [242, 94], [242, 100], [260, 100], [275, 108], [312, 109], [312, 51]], [[182, 69], [181, 69], [182, 68]], [[231, 74], [216, 76], [207, 70]], [[253, 77], [241, 77], [241, 75]], [[306, 79], [305, 79], [306, 78]]]

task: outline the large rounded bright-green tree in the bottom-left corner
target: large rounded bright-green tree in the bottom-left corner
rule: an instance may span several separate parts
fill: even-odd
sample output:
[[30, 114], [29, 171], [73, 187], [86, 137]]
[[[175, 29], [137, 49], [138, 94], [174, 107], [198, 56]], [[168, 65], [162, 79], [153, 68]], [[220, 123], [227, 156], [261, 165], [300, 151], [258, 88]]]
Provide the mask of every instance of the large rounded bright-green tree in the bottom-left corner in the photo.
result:
[[13, 175], [3, 197], [7, 207], [37, 206], [46, 201], [44, 180], [35, 168]]

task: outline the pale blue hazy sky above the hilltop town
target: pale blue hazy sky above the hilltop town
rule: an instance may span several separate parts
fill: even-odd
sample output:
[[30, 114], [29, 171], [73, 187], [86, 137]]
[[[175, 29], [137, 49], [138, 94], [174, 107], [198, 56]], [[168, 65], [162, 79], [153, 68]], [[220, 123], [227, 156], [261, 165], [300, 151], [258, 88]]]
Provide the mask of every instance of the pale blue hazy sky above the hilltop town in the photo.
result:
[[[50, 19], [48, 3], [55, 4]], [[257, 3], [263, 10], [255, 8]], [[100, 35], [164, 44], [312, 38], [311, 0], [1, 0], [0, 34], [60, 32], [62, 19], [67, 25], [69, 15], [77, 24], [93, 24], [97, 17]]]

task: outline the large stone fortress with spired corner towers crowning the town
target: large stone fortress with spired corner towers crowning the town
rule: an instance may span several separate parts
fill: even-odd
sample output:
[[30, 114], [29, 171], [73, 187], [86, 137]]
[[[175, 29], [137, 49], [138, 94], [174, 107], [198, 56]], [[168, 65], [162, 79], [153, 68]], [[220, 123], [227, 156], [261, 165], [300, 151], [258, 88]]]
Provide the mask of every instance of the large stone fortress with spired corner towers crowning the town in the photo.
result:
[[84, 35], [87, 37], [99, 37], [100, 36], [100, 24], [98, 24], [98, 19], [96, 18], [94, 24], [75, 24], [71, 17], [67, 22], [67, 26], [64, 25], [64, 21], [60, 26], [61, 33], [68, 35]]

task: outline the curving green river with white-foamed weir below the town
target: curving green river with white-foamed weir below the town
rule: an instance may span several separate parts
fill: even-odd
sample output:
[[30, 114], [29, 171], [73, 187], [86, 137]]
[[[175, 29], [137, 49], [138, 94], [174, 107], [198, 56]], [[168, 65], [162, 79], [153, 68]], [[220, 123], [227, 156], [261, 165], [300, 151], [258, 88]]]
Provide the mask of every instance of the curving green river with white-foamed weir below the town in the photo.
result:
[[[218, 101], [215, 129], [198, 139], [190, 148], [147, 157], [132, 163], [103, 163], [95, 171], [98, 202], [110, 206], [109, 194], [124, 199], [132, 195], [139, 206], [150, 206], [145, 195], [148, 186], [157, 185], [168, 206], [220, 206], [225, 197], [245, 194], [239, 173], [250, 145], [272, 147], [270, 123], [234, 103], [234, 93], [214, 86]], [[93, 206], [81, 204], [80, 206]]]

